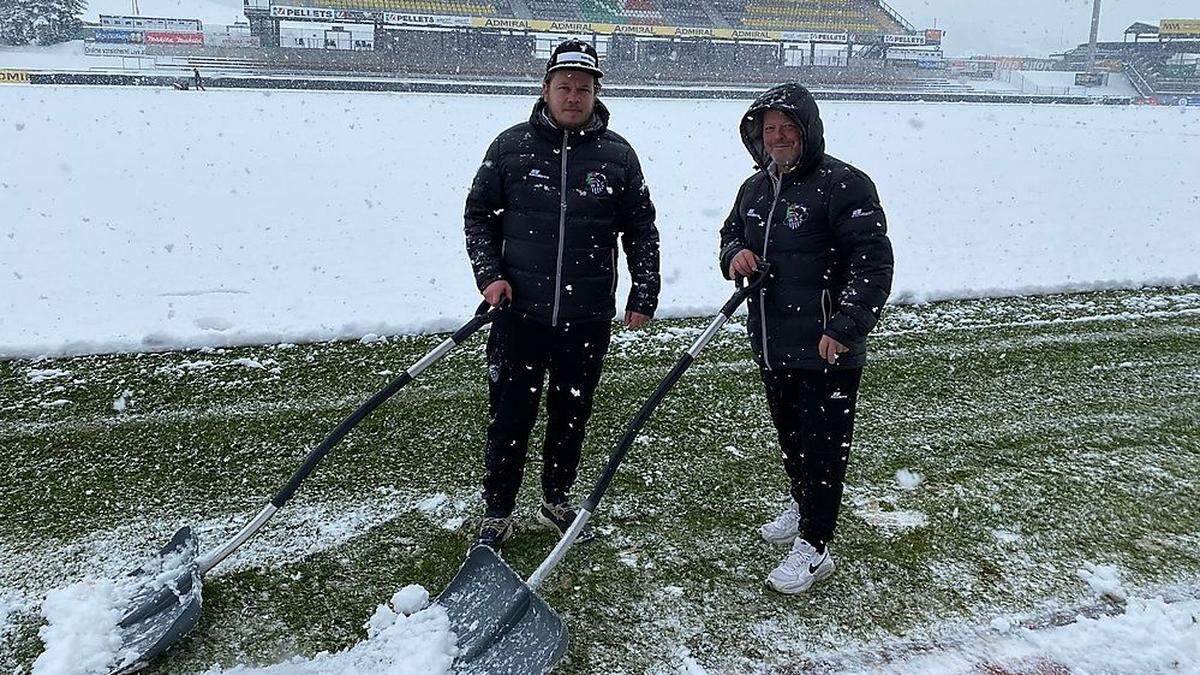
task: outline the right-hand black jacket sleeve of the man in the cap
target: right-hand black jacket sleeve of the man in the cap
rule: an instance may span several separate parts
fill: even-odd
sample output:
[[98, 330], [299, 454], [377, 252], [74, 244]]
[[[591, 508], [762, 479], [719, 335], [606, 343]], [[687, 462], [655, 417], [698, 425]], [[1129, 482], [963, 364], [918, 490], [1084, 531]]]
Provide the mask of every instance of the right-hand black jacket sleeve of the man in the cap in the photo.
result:
[[620, 196], [620, 243], [629, 264], [632, 288], [625, 311], [654, 316], [659, 306], [659, 229], [654, 226], [654, 203], [642, 175], [642, 165], [632, 148], [628, 160], [629, 183]]

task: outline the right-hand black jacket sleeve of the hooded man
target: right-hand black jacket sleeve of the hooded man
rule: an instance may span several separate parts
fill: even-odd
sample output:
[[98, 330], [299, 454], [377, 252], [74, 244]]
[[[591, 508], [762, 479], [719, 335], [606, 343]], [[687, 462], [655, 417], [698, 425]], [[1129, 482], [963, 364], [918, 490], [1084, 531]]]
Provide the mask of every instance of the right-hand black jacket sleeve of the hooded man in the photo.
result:
[[892, 241], [880, 196], [866, 174], [851, 171], [833, 180], [829, 190], [829, 222], [846, 263], [846, 283], [824, 333], [850, 345], [866, 339], [892, 293]]

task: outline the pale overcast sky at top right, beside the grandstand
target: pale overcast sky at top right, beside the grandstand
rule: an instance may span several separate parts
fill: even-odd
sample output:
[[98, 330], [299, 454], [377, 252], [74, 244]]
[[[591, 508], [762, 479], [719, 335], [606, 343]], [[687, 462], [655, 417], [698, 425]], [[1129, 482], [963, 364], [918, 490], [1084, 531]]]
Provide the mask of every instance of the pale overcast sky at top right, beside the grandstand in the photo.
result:
[[[917, 28], [944, 29], [948, 56], [1046, 56], [1087, 42], [1092, 0], [886, 0]], [[1200, 18], [1200, 0], [1103, 0], [1100, 40], [1134, 22]]]

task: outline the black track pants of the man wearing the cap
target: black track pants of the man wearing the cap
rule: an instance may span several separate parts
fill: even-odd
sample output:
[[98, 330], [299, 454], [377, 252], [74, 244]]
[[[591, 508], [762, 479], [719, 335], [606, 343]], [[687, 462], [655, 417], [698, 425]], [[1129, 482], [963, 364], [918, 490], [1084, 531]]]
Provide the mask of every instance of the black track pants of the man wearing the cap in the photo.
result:
[[542, 498], [550, 503], [566, 501], [608, 351], [610, 325], [608, 321], [593, 321], [551, 328], [515, 312], [504, 312], [492, 323], [487, 339], [490, 422], [484, 476], [487, 515], [505, 516], [516, 507], [544, 386], [548, 388]]

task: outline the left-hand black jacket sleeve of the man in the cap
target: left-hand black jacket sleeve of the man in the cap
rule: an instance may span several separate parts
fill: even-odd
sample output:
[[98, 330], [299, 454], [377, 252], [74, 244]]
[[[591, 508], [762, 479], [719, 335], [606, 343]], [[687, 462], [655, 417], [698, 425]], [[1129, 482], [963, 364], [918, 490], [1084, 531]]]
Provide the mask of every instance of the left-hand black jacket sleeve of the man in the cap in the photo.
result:
[[467, 256], [475, 273], [475, 286], [482, 291], [488, 283], [504, 279], [500, 259], [500, 215], [504, 213], [504, 183], [500, 178], [499, 143], [497, 138], [467, 195], [463, 231], [467, 234]]

